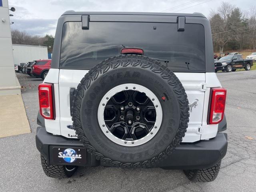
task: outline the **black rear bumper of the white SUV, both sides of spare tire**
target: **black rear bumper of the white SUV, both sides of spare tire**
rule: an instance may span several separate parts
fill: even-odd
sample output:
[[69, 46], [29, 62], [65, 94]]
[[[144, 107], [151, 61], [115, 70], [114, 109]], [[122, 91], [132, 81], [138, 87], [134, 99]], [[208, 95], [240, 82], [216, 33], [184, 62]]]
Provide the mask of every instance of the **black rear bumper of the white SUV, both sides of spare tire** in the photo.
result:
[[[53, 162], [52, 148], [83, 148], [76, 139], [68, 139], [62, 136], [54, 136], [46, 132], [44, 127], [38, 127], [36, 133], [36, 147], [39, 152]], [[168, 169], [201, 169], [209, 168], [222, 160], [228, 147], [227, 134], [217, 133], [211, 140], [201, 140], [195, 143], [181, 143], [168, 158], [161, 161], [156, 167]], [[61, 163], [63, 164], [63, 163]], [[72, 165], [72, 163], [65, 163]], [[79, 166], [99, 166], [100, 161], [87, 152], [86, 164]]]

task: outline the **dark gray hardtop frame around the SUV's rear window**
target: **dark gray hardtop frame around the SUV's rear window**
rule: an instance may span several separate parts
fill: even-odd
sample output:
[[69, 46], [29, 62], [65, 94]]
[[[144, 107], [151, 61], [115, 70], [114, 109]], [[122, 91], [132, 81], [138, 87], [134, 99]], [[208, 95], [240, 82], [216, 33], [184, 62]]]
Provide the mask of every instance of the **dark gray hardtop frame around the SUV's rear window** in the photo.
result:
[[[90, 16], [90, 17], [86, 17]], [[66, 11], [58, 19], [56, 35], [54, 38], [54, 46], [52, 54], [51, 68], [60, 69], [60, 52], [62, 45], [63, 26], [66, 22], [82, 22], [84, 18], [84, 28], [87, 30], [88, 22], [152, 22], [152, 23], [176, 23], [178, 27], [178, 17], [186, 17], [181, 19], [185, 24], [200, 24], [204, 27], [205, 39], [205, 72], [214, 72], [212, 32], [210, 21], [201, 13], [156, 13], [156, 12], [75, 12]], [[87, 22], [86, 22], [87, 21]], [[89, 26], [89, 25], [88, 25]], [[90, 30], [90, 29], [89, 29]], [[178, 28], [177, 28], [178, 30]], [[186, 25], [185, 25], [186, 30]], [[71, 68], [72, 69], [72, 68]], [[177, 71], [176, 71], [177, 72]]]

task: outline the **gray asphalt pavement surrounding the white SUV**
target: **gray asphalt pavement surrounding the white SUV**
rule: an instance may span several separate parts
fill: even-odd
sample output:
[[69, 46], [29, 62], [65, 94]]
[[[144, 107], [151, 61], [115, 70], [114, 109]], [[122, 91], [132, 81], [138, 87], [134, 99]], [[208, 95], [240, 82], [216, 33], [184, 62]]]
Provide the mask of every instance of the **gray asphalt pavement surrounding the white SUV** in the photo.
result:
[[[217, 73], [228, 90], [228, 152], [214, 182], [190, 182], [181, 170], [79, 168], [72, 178], [48, 178], [36, 149], [37, 86], [42, 80], [18, 74], [32, 133], [0, 138], [0, 191], [191, 191], [256, 190], [256, 71]], [[18, 117], [17, 117], [18, 118]]]

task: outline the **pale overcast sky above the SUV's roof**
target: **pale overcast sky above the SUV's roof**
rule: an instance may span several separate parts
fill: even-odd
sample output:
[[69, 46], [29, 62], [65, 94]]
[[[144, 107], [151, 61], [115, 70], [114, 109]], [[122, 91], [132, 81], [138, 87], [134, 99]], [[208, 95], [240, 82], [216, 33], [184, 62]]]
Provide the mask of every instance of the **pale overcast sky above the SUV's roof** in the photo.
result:
[[[125, 11], [125, 12], [200, 12], [206, 17], [217, 9], [222, 0], [9, 0], [13, 29], [29, 34], [55, 35], [58, 18], [66, 10], [74, 11]], [[227, 0], [242, 10], [250, 11], [255, 0]]]

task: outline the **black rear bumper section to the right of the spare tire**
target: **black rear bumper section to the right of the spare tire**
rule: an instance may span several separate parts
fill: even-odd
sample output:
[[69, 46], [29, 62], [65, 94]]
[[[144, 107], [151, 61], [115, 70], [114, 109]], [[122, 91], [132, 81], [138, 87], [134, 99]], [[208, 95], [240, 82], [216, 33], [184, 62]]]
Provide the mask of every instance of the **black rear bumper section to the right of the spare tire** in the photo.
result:
[[169, 169], [210, 168], [222, 160], [227, 148], [227, 134], [217, 133], [216, 137], [210, 140], [181, 143], [159, 166]]

